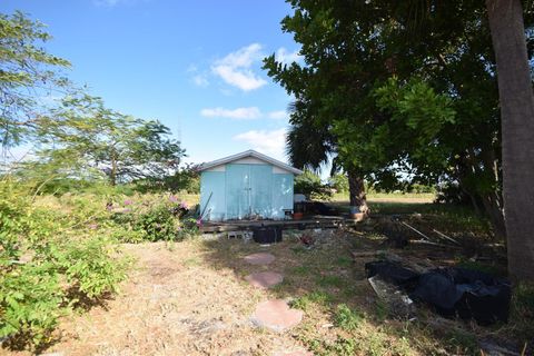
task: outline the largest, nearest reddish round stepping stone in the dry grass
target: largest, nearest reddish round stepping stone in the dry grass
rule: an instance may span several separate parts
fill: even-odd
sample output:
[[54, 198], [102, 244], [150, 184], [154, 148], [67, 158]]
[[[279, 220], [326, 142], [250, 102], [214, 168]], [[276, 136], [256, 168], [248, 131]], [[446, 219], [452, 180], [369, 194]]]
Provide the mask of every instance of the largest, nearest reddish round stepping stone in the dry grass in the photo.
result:
[[291, 309], [283, 299], [273, 299], [257, 305], [253, 323], [275, 332], [284, 332], [303, 319], [303, 310]]

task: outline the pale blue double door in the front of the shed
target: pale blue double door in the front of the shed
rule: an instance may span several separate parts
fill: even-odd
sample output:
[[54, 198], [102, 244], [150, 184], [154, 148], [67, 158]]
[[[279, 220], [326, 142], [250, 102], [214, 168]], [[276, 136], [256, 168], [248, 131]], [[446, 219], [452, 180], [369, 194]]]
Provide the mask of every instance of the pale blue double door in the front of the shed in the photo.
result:
[[228, 219], [271, 217], [273, 167], [268, 165], [226, 166], [226, 211]]

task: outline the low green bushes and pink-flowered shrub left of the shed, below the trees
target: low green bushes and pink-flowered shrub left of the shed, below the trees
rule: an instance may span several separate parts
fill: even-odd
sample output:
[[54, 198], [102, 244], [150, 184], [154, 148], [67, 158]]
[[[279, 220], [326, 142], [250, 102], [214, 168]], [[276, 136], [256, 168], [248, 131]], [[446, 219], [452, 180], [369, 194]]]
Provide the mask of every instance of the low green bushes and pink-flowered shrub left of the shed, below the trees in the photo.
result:
[[180, 240], [198, 230], [175, 196], [33, 197], [8, 178], [0, 189], [0, 338], [11, 348], [46, 346], [62, 316], [116, 293], [128, 266], [119, 243]]

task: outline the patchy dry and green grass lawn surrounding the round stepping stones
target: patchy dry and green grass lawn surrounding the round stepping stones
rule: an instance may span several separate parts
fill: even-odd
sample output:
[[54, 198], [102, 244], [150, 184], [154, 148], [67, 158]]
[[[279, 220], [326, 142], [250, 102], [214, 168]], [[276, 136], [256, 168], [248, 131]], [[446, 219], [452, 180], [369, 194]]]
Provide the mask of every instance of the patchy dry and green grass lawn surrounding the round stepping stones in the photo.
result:
[[[47, 352], [70, 355], [472, 355], [477, 339], [497, 327], [445, 320], [424, 307], [416, 320], [397, 320], [370, 288], [364, 265], [383, 249], [375, 233], [323, 230], [313, 249], [285, 231], [281, 244], [261, 247], [240, 239], [123, 245], [136, 259], [121, 293], [106, 306], [63, 320]], [[267, 266], [247, 264], [270, 253]], [[350, 251], [367, 257], [353, 260]], [[367, 254], [365, 254], [367, 253]], [[369, 254], [370, 253], [370, 254]], [[454, 264], [442, 250], [396, 250], [402, 257]], [[259, 289], [245, 277], [277, 271], [284, 281]], [[250, 316], [260, 301], [281, 298], [304, 310], [303, 322], [276, 333], [256, 328]], [[6, 350], [2, 350], [6, 353]]]

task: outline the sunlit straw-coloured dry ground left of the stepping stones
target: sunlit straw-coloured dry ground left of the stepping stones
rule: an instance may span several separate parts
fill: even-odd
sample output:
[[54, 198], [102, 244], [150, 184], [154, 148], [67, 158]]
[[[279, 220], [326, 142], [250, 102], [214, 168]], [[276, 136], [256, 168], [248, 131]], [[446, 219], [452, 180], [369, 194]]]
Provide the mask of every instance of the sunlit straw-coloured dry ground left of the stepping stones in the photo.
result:
[[[290, 330], [277, 334], [257, 329], [249, 319], [269, 291], [249, 286], [243, 276], [250, 270], [277, 269], [281, 260], [269, 267], [247, 266], [236, 254], [234, 267], [241, 264], [240, 274], [214, 260], [214, 253], [199, 244], [125, 246], [137, 263], [121, 294], [106, 307], [66, 320], [61, 340], [47, 353], [284, 355], [304, 349]], [[265, 250], [257, 245], [250, 247]]]

